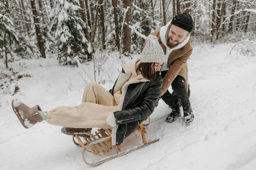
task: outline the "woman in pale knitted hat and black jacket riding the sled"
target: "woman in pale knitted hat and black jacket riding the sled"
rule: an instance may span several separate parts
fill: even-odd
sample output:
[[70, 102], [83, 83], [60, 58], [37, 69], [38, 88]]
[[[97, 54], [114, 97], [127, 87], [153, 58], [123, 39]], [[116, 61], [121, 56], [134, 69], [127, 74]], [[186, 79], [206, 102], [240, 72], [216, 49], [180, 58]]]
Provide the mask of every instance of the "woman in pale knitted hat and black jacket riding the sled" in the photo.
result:
[[89, 128], [107, 128], [112, 129], [112, 145], [118, 145], [154, 111], [162, 90], [163, 80], [159, 74], [165, 60], [156, 36], [149, 35], [140, 59], [123, 65], [109, 92], [98, 83], [90, 82], [78, 106], [60, 106], [43, 112], [38, 105], [30, 108], [16, 99], [12, 100], [12, 108], [27, 129], [43, 120], [69, 127], [66, 128], [69, 131], [82, 129], [82, 135], [90, 131]]

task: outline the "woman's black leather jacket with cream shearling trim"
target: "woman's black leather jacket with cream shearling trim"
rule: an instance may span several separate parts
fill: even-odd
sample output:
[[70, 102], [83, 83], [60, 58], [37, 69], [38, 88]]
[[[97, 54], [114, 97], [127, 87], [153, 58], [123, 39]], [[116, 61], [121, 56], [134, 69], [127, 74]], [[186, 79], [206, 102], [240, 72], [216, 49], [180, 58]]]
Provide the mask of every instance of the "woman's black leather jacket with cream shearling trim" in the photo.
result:
[[[126, 74], [124, 69], [122, 73]], [[113, 88], [109, 91], [112, 95], [114, 95], [118, 78]], [[116, 124], [118, 125], [116, 130], [116, 145], [121, 144], [125, 137], [128, 137], [145, 118], [153, 113], [156, 101], [160, 97], [162, 84], [163, 79], [158, 75], [153, 85], [149, 81], [140, 81], [128, 85], [126, 92], [123, 92], [124, 94], [122, 93], [122, 96], [124, 95], [124, 100], [120, 107], [122, 109], [114, 112]]]

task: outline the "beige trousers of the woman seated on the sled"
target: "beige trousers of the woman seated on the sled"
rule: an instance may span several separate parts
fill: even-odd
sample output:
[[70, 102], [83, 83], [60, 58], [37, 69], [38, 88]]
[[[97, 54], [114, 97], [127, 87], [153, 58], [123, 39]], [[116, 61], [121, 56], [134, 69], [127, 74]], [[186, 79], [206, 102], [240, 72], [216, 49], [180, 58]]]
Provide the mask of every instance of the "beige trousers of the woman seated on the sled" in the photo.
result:
[[97, 82], [90, 82], [85, 86], [80, 105], [52, 109], [47, 112], [47, 122], [70, 128], [112, 129], [105, 119], [117, 111], [117, 107], [114, 96]]

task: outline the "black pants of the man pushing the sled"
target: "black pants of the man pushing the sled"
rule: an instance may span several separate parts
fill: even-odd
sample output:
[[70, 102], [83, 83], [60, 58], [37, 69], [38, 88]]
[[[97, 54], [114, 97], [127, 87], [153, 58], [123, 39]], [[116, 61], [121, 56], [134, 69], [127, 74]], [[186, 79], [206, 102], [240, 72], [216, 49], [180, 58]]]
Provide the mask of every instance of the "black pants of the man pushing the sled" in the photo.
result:
[[[165, 74], [167, 73], [168, 70], [166, 71], [161, 71], [161, 76], [164, 78]], [[174, 104], [178, 103], [178, 100], [182, 103], [188, 103], [189, 102], [189, 94], [190, 90], [188, 88], [188, 92], [186, 91], [186, 86], [183, 77], [177, 76], [173, 82], [172, 82], [172, 90], [176, 92], [177, 98], [174, 97], [168, 90], [163, 94], [162, 99], [164, 102], [169, 105], [173, 106]]]

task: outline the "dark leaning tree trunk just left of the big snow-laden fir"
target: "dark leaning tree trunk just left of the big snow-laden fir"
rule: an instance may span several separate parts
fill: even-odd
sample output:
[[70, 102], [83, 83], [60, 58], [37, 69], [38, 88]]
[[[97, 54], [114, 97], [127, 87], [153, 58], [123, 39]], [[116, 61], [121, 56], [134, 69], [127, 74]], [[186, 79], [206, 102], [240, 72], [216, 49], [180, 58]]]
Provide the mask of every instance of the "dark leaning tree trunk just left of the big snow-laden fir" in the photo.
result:
[[40, 30], [40, 22], [39, 22], [39, 19], [38, 19], [38, 16], [37, 16], [37, 12], [36, 12], [35, 1], [34, 0], [30, 0], [30, 4], [31, 4], [33, 18], [34, 18], [34, 23], [35, 23], [35, 27], [36, 27], [37, 45], [38, 45], [38, 48], [39, 48], [39, 51], [40, 51], [42, 57], [46, 58], [46, 56], [45, 56], [45, 49], [44, 49], [44, 42], [43, 42], [41, 30]]

